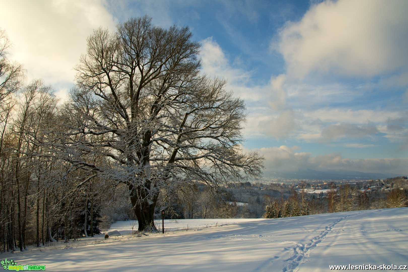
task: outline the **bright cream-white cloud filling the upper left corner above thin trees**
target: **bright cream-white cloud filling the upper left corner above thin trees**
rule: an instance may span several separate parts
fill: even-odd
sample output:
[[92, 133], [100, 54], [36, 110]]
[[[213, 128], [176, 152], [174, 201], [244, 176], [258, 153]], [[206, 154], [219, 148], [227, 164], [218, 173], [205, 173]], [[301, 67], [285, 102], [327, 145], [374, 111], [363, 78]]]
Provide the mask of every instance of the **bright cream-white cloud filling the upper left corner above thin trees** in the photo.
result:
[[93, 29], [115, 23], [102, 1], [13, 0], [0, 9], [0, 25], [13, 42], [11, 58], [24, 66], [27, 79], [59, 86], [72, 84]]

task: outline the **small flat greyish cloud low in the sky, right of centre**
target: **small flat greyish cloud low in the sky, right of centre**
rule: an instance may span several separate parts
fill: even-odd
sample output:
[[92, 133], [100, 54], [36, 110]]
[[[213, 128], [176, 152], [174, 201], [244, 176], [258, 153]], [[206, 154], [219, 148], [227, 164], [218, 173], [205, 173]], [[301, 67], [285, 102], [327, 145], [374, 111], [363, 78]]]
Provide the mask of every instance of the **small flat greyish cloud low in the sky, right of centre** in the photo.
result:
[[338, 124], [329, 125], [322, 130], [322, 140], [330, 141], [340, 138], [363, 138], [379, 133], [377, 127], [372, 124]]

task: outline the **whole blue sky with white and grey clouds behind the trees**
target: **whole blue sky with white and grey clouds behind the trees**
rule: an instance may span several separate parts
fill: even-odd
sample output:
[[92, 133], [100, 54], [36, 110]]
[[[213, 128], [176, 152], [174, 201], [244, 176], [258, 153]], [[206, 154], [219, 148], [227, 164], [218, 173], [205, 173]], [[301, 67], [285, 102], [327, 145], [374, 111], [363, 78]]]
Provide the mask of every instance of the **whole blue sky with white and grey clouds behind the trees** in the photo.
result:
[[27, 80], [64, 99], [86, 37], [148, 14], [189, 26], [203, 72], [246, 100], [267, 171], [408, 173], [408, 1], [4, 1]]

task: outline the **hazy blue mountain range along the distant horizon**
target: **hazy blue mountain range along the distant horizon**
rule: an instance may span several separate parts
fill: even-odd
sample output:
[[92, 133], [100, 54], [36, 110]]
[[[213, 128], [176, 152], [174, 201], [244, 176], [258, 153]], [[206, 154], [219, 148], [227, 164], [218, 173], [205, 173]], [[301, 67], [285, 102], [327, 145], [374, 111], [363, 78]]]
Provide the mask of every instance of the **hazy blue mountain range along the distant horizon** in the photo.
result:
[[348, 170], [325, 170], [299, 169], [293, 172], [264, 172], [264, 177], [293, 178], [293, 179], [377, 179], [401, 176], [391, 173], [365, 173]]

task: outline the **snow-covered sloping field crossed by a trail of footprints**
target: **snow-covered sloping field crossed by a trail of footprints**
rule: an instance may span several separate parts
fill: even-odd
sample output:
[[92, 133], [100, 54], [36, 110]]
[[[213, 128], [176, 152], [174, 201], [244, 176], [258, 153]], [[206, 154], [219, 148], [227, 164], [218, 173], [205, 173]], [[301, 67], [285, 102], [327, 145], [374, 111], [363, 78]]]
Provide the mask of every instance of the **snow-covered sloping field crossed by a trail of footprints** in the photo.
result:
[[[69, 249], [2, 254], [0, 259], [46, 265], [47, 271], [329, 271], [329, 265], [349, 263], [408, 265], [407, 222], [408, 208], [178, 220], [165, 224], [180, 230], [165, 234], [115, 236]], [[125, 221], [110, 231], [130, 229]]]

